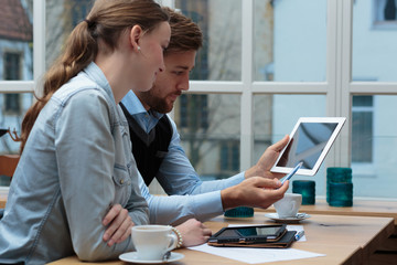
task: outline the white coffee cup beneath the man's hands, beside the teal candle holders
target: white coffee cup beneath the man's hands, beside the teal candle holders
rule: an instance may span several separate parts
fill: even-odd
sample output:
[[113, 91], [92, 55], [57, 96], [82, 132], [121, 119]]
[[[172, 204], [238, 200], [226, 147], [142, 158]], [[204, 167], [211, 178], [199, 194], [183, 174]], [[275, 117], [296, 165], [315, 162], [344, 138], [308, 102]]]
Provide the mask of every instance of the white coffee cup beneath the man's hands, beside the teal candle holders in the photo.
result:
[[296, 218], [301, 204], [302, 194], [299, 193], [285, 193], [281, 200], [273, 203], [279, 219]]

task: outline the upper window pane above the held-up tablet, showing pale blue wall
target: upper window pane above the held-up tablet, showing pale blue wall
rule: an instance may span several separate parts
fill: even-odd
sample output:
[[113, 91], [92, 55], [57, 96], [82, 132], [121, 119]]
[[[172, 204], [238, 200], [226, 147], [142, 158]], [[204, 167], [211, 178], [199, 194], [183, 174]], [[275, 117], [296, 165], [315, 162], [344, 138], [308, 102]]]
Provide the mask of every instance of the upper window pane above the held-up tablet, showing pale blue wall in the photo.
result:
[[256, 81], [326, 77], [326, 0], [255, 1]]

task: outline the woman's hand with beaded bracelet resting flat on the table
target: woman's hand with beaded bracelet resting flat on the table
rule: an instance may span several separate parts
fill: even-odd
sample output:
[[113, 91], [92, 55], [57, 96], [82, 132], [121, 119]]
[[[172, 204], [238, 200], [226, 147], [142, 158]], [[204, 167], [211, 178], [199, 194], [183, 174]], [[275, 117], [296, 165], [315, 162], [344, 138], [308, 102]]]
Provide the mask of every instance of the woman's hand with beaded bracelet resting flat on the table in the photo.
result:
[[182, 235], [184, 247], [204, 244], [212, 235], [212, 231], [195, 219], [189, 219], [175, 229]]

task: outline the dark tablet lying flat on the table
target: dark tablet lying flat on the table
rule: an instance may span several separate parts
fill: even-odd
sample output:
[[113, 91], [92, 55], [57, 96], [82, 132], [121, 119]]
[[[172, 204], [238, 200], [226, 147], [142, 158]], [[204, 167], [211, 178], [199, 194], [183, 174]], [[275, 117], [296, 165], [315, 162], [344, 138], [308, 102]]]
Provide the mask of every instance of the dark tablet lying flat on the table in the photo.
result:
[[250, 245], [277, 242], [286, 232], [286, 224], [223, 227], [210, 237], [208, 245]]

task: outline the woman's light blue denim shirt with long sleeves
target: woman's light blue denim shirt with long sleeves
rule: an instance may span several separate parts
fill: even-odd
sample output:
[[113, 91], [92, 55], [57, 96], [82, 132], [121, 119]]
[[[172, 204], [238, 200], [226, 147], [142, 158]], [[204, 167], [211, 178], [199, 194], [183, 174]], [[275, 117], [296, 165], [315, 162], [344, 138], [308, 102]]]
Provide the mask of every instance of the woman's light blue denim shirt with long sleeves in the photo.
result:
[[44, 264], [69, 255], [117, 258], [131, 239], [107, 246], [101, 224], [120, 203], [149, 222], [128, 123], [99, 67], [90, 63], [40, 113], [11, 182], [0, 221], [0, 263]]

